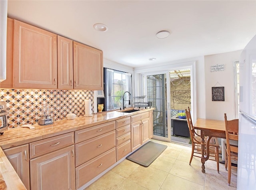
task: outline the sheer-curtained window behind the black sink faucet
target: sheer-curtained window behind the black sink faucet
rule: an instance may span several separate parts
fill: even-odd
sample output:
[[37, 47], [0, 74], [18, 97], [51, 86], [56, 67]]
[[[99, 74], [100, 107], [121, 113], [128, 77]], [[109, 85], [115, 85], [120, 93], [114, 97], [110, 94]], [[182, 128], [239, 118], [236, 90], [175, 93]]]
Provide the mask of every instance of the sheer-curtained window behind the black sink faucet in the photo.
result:
[[122, 106], [122, 96], [125, 93], [124, 105], [129, 107], [132, 105], [132, 74], [112, 69], [106, 69], [106, 98], [107, 98], [107, 111], [118, 109]]

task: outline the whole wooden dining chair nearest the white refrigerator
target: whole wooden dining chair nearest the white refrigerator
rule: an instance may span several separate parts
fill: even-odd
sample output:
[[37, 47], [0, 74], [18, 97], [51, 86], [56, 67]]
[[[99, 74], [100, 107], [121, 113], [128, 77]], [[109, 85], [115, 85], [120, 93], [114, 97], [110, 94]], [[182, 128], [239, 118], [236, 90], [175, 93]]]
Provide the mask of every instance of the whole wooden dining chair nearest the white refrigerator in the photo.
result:
[[226, 127], [226, 158], [225, 169], [228, 167], [228, 186], [231, 180], [231, 160], [238, 160], [238, 146], [230, 144], [230, 140], [238, 141], [238, 119], [228, 121], [227, 115], [224, 113]]

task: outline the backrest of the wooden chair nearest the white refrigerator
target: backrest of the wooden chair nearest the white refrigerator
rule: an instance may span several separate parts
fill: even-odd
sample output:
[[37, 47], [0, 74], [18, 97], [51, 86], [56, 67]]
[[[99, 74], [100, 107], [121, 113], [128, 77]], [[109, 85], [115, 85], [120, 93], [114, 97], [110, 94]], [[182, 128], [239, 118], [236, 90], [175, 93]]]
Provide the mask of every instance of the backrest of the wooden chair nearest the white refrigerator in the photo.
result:
[[224, 113], [226, 127], [226, 143], [228, 151], [237, 152], [238, 148], [230, 146], [229, 140], [238, 141], [238, 119], [228, 121], [227, 115]]

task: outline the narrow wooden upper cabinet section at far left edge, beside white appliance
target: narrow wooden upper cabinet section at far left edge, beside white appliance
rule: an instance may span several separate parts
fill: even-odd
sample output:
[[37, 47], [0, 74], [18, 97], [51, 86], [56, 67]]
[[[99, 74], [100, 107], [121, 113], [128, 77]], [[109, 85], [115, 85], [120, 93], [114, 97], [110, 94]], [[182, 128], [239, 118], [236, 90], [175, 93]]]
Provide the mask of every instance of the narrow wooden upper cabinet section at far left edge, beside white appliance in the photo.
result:
[[13, 21], [7, 18], [6, 80], [0, 83], [0, 88], [12, 88]]

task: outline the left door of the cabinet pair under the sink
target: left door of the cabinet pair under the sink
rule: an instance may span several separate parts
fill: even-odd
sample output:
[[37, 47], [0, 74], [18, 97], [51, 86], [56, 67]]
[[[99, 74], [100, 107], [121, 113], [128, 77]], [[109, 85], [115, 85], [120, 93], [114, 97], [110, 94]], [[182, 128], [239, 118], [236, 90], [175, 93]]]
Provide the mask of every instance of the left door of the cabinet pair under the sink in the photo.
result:
[[141, 121], [131, 124], [131, 146], [132, 151], [139, 148], [141, 143]]

